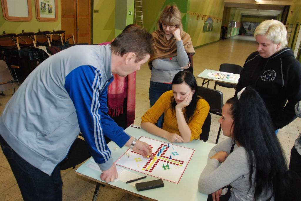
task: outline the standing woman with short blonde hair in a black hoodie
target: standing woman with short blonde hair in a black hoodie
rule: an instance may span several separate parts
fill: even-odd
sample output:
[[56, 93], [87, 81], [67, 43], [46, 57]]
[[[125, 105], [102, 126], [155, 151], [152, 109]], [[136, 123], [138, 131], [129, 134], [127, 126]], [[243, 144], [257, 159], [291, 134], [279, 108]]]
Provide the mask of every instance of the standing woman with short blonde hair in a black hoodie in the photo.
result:
[[250, 86], [259, 93], [276, 133], [296, 118], [294, 107], [301, 100], [301, 65], [286, 47], [286, 35], [285, 26], [278, 20], [259, 24], [254, 32], [257, 51], [247, 58], [235, 91], [236, 96]]

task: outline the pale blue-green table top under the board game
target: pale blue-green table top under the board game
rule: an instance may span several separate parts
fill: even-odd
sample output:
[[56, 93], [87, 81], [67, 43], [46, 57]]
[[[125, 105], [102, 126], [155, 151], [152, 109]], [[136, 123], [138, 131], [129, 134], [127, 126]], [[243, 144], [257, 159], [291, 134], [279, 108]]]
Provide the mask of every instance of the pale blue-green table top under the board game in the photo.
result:
[[[138, 126], [134, 126], [134, 125], [132, 125], [132, 127], [129, 126], [125, 130], [125, 132], [137, 139], [139, 139], [141, 136], [144, 136], [154, 140], [159, 140], [168, 143], [166, 139], [163, 139], [158, 136], [154, 136]], [[151, 189], [151, 190], [144, 190], [139, 192], [136, 190], [134, 186], [126, 184], [120, 180], [110, 182], [109, 184], [121, 188], [123, 190], [130, 191], [134, 194], [137, 194], [138, 196], [142, 195], [144, 197], [155, 199], [155, 200], [164, 200], [164, 201], [165, 200], [205, 200], [206, 201], [208, 195], [202, 194], [198, 191], [197, 183], [201, 172], [203, 171], [204, 167], [207, 164], [207, 157], [209, 151], [215, 146], [215, 144], [203, 142], [199, 140], [193, 140], [192, 142], [181, 143], [179, 145], [182, 147], [194, 149], [195, 151], [178, 184], [163, 180], [164, 187]], [[108, 147], [111, 150], [111, 155], [114, 159], [114, 162], [128, 149], [128, 147], [126, 146], [119, 148], [116, 145], [116, 143], [113, 141], [108, 143]], [[114, 150], [116, 147], [118, 147], [118, 149]], [[87, 164], [91, 162], [91, 160], [93, 159], [90, 158], [89, 160], [87, 160], [84, 164], [82, 164], [82, 166], [79, 167], [79, 169], [76, 170], [76, 172], [85, 175], [87, 178], [92, 178], [94, 180], [98, 180], [99, 183], [102, 183], [102, 181], [100, 180], [100, 172], [87, 166]], [[126, 170], [141, 175], [141, 177], [147, 176], [147, 178], [141, 180], [141, 182], [158, 179], [156, 177], [145, 175], [130, 169], [126, 169]], [[101, 190], [99, 191], [99, 195], [101, 196]]]

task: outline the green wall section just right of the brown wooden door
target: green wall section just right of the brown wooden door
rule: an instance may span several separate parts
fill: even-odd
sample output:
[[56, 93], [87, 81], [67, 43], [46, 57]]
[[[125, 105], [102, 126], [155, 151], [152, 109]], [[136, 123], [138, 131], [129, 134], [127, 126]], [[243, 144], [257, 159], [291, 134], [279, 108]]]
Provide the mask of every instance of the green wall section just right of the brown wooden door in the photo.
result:
[[[63, 0], [64, 1], [64, 0]], [[115, 38], [115, 1], [94, 0], [93, 11], [93, 44]]]

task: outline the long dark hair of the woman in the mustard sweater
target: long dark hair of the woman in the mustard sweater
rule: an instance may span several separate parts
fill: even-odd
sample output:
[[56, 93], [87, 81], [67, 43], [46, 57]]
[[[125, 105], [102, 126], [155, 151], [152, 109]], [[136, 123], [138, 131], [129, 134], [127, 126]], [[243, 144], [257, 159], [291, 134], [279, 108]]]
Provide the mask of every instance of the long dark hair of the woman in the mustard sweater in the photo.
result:
[[[188, 123], [192, 115], [194, 114], [195, 108], [197, 107], [197, 101], [201, 98], [197, 95], [197, 81], [194, 75], [189, 71], [180, 71], [175, 74], [175, 77], [172, 80], [172, 84], [182, 84], [185, 82], [191, 88], [191, 90], [195, 90], [194, 94], [192, 95], [192, 99], [190, 104], [186, 107], [186, 111], [184, 114], [185, 120]], [[171, 97], [171, 109], [175, 114], [175, 106], [177, 102], [175, 102], [174, 97]]]

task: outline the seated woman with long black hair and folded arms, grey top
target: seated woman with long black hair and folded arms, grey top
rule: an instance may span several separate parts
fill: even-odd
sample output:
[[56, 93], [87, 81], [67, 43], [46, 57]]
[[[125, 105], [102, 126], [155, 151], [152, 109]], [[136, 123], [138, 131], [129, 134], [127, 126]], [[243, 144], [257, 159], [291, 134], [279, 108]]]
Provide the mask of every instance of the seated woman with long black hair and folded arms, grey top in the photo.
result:
[[259, 94], [251, 87], [242, 91], [222, 108], [219, 123], [229, 138], [210, 151], [199, 191], [213, 200], [279, 200], [289, 185], [281, 145]]

